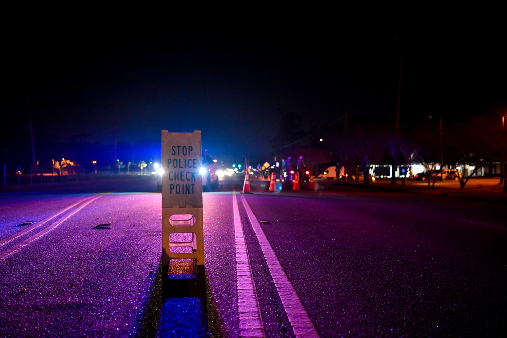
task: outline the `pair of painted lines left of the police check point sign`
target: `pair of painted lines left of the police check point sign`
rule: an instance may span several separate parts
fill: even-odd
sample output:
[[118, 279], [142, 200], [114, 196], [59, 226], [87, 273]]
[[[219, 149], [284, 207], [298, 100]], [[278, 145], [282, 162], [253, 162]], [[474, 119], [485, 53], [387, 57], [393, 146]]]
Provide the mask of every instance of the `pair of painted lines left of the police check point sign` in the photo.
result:
[[[42, 228], [46, 223], [50, 222], [52, 219], [58, 217], [59, 215], [67, 212], [68, 210], [75, 209], [71, 213], [67, 214], [65, 217], [63, 217], [63, 218], [57, 220], [56, 222], [50, 224], [48, 227], [44, 228], [43, 230], [41, 230], [37, 234], [35, 234], [35, 235], [27, 238], [26, 240], [22, 241], [21, 243], [18, 243], [16, 245], [14, 245], [14, 246], [12, 246], [12, 247], [4, 250], [4, 251], [0, 251], [0, 261], [3, 261], [4, 259], [6, 259], [7, 257], [9, 257], [10, 255], [12, 255], [14, 252], [16, 252], [19, 249], [27, 246], [28, 244], [32, 243], [33, 241], [38, 240], [39, 238], [41, 238], [42, 236], [44, 236], [45, 234], [47, 234], [51, 230], [53, 230], [56, 227], [58, 227], [65, 220], [67, 220], [68, 218], [70, 218], [71, 216], [73, 216], [74, 214], [76, 214], [77, 212], [79, 212], [85, 206], [87, 206], [88, 204], [92, 203], [96, 199], [102, 197], [103, 195], [104, 194], [94, 195], [94, 196], [90, 196], [90, 197], [87, 197], [85, 199], [82, 199], [82, 200], [80, 200], [80, 201], [78, 201], [78, 202], [76, 202], [76, 203], [74, 203], [74, 204], [66, 207], [65, 209], [61, 210], [60, 212], [58, 212], [58, 213], [56, 213], [56, 214], [54, 214], [52, 216], [46, 217], [45, 219], [43, 219], [40, 222], [37, 222], [37, 223], [33, 224], [32, 226], [30, 226], [28, 228], [25, 228], [25, 229], [23, 229], [20, 232], [15, 233], [14, 235], [11, 235], [9, 237], [4, 238], [3, 240], [0, 240], [0, 247], [2, 247], [3, 245], [12, 242], [16, 238], [19, 238], [19, 237], [23, 236], [24, 234], [26, 234], [26, 233], [28, 233], [28, 232], [30, 232], [32, 230], [35, 230], [37, 228]], [[78, 205], [80, 205], [80, 206], [77, 207]]]

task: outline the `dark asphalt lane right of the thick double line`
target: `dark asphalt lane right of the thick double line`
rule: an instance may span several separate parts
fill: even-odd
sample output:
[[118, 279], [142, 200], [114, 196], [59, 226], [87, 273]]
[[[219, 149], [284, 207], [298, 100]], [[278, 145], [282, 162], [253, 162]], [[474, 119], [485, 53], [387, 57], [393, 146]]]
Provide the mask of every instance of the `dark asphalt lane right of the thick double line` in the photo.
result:
[[321, 336], [497, 336], [505, 208], [380, 192], [247, 198]]

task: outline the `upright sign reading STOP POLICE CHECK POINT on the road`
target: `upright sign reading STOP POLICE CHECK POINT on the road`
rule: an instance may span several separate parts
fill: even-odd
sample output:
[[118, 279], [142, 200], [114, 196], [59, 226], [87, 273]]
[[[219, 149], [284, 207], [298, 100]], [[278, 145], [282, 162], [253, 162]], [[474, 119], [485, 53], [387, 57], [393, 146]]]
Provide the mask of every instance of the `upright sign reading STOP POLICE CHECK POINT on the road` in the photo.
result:
[[[170, 260], [176, 258], [190, 258], [197, 260], [197, 265], [204, 265], [202, 177], [199, 174], [201, 132], [162, 130], [161, 139], [165, 171], [162, 176], [162, 265], [168, 267]], [[171, 239], [189, 235], [191, 240]]]

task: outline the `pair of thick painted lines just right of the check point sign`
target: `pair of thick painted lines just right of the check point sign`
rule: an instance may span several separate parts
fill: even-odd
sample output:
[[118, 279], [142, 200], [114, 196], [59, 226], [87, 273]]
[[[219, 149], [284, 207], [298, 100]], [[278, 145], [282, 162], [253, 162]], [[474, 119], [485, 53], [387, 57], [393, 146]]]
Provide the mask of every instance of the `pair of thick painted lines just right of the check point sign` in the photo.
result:
[[[248, 250], [244, 238], [241, 218], [239, 216], [238, 196], [233, 193], [234, 230], [236, 241], [236, 271], [238, 284], [238, 311], [239, 311], [239, 335], [241, 337], [265, 337], [262, 323], [261, 310], [257, 299], [257, 292], [251, 273]], [[246, 213], [257, 236], [262, 253], [269, 267], [269, 272], [278, 291], [285, 313], [291, 323], [296, 337], [318, 337], [317, 330], [308, 316], [305, 307], [301, 303], [292, 283], [288, 280], [285, 271], [275, 252], [271, 248], [266, 235], [259, 226], [259, 221], [253, 214], [246, 199], [241, 196]]]

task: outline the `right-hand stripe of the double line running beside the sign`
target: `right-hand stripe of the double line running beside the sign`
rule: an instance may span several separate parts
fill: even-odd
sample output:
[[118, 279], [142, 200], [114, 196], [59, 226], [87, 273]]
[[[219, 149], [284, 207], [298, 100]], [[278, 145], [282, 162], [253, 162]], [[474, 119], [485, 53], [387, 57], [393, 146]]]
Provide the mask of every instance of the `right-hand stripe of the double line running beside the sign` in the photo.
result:
[[313, 325], [310, 316], [306, 312], [305, 307], [301, 303], [301, 299], [299, 299], [296, 290], [292, 286], [292, 283], [288, 280], [285, 271], [283, 270], [278, 257], [276, 257], [271, 244], [269, 244], [266, 235], [262, 231], [261, 226], [259, 225], [259, 221], [255, 217], [252, 212], [252, 209], [248, 205], [248, 202], [241, 196], [243, 200], [243, 205], [245, 206], [246, 213], [252, 224], [253, 231], [257, 236], [257, 240], [259, 241], [259, 245], [261, 246], [262, 252], [264, 254], [264, 258], [269, 267], [269, 272], [271, 273], [271, 277], [273, 277], [273, 282], [275, 283], [276, 290], [280, 295], [280, 299], [282, 301], [285, 312], [287, 313], [287, 317], [289, 322], [291, 323], [292, 330], [296, 337], [318, 337], [317, 330]]

